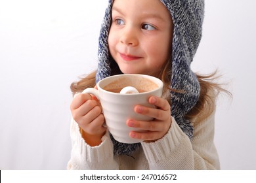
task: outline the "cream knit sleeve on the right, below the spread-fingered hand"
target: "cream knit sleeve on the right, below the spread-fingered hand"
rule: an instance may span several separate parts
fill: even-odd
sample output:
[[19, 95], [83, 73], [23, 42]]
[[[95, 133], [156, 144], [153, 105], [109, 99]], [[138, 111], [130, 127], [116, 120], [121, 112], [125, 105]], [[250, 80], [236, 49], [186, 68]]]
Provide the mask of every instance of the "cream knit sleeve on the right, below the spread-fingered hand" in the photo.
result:
[[174, 118], [168, 133], [156, 142], [142, 142], [150, 169], [220, 169], [213, 142], [215, 111], [194, 125], [194, 137], [182, 132]]

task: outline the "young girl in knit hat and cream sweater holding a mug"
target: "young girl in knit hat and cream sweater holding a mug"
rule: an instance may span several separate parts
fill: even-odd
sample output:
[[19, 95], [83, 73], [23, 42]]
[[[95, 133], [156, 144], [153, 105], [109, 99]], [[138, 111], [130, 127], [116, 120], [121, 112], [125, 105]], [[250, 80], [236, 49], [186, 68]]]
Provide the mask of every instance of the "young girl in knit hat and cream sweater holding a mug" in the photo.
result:
[[[202, 36], [203, 0], [110, 0], [100, 31], [98, 69], [74, 82], [72, 155], [68, 169], [220, 169], [214, 137], [215, 97], [221, 88], [195, 75], [190, 63]], [[111, 75], [139, 73], [164, 82], [134, 110], [152, 122], [127, 120], [137, 144], [115, 141], [100, 102], [85, 88]], [[211, 75], [213, 76], [213, 75]]]

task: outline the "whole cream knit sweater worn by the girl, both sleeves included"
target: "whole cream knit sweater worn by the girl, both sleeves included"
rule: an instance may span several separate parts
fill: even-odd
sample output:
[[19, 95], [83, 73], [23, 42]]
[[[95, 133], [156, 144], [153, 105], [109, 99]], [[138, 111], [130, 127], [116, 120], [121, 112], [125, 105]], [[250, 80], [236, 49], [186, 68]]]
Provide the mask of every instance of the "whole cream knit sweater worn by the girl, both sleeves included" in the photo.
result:
[[72, 152], [68, 169], [220, 169], [213, 143], [215, 111], [193, 122], [192, 141], [172, 118], [168, 133], [156, 142], [142, 142], [131, 156], [114, 156], [108, 132], [99, 146], [91, 147], [81, 137], [79, 126], [72, 120]]

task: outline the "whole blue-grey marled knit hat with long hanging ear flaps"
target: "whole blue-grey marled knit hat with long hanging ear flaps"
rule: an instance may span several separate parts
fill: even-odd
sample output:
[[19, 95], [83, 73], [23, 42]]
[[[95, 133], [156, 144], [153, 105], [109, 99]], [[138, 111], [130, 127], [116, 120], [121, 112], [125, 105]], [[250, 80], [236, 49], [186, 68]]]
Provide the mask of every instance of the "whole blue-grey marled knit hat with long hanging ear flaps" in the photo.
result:
[[[172, 55], [171, 88], [182, 92], [171, 92], [171, 115], [175, 118], [182, 131], [190, 139], [193, 137], [192, 124], [184, 118], [185, 114], [196, 105], [200, 95], [200, 84], [198, 78], [192, 72], [190, 64], [194, 58], [202, 37], [202, 24], [204, 14], [203, 0], [159, 0], [169, 10], [173, 18], [173, 45], [170, 50]], [[98, 43], [98, 69], [96, 82], [112, 74], [113, 63], [108, 50], [108, 35], [112, 22], [112, 0], [109, 0], [108, 7]], [[110, 135], [114, 144], [114, 154], [131, 154], [140, 143], [123, 144], [117, 142]]]

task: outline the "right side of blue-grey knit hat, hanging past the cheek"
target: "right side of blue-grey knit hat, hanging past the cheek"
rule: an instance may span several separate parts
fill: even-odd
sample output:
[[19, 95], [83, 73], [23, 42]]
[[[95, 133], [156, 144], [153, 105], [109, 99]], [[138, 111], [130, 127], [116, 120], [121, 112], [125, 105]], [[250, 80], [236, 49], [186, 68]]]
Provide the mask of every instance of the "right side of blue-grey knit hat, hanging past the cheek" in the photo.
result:
[[160, 0], [173, 18], [171, 113], [181, 129], [192, 138], [192, 125], [184, 118], [196, 105], [200, 95], [200, 84], [190, 64], [202, 37], [204, 14], [203, 0]]

